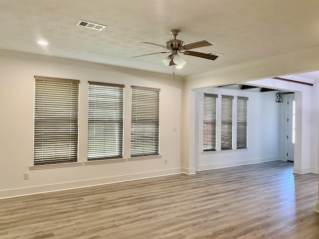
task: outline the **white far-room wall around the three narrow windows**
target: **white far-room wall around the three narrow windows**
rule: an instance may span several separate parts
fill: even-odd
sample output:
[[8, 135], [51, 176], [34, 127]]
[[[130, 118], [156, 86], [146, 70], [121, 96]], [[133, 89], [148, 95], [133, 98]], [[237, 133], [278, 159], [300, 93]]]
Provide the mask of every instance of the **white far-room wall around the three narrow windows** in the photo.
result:
[[[195, 99], [195, 169], [196, 171], [278, 160], [279, 104], [274, 92], [249, 92], [222, 88], [194, 90]], [[203, 94], [217, 94], [217, 151], [203, 152]], [[236, 150], [236, 123], [233, 124], [233, 150], [220, 151], [221, 95], [248, 97], [247, 149]], [[235, 112], [235, 111], [234, 111]], [[236, 115], [234, 113], [234, 122]]]

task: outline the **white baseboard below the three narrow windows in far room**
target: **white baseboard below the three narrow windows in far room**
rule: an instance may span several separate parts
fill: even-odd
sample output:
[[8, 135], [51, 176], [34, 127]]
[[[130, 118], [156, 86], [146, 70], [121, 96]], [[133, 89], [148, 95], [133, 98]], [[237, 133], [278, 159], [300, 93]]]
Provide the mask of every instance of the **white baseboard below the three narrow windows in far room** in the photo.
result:
[[278, 160], [278, 157], [276, 156], [276, 157], [248, 159], [248, 160], [225, 162], [225, 163], [206, 164], [206, 165], [196, 166], [196, 171], [205, 171], [205, 170], [211, 170], [211, 169], [217, 169], [217, 168], [228, 168], [228, 167], [235, 167], [235, 166], [241, 166], [241, 165], [247, 165], [247, 164], [277, 161], [277, 160]]

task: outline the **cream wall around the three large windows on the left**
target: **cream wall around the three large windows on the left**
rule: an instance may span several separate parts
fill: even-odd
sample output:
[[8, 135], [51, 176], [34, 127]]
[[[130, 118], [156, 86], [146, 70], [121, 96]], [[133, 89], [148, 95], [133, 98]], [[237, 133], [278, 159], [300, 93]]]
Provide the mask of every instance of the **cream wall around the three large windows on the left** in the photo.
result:
[[[0, 51], [0, 198], [180, 173], [182, 78], [93, 63]], [[11, 57], [13, 56], [13, 57]], [[33, 165], [34, 76], [80, 80], [80, 163]], [[125, 85], [124, 157], [130, 157], [130, 87], [160, 88], [161, 157], [87, 161], [87, 81]], [[176, 131], [173, 131], [176, 127]], [[164, 164], [167, 159], [167, 164]], [[29, 172], [29, 179], [23, 173]]]

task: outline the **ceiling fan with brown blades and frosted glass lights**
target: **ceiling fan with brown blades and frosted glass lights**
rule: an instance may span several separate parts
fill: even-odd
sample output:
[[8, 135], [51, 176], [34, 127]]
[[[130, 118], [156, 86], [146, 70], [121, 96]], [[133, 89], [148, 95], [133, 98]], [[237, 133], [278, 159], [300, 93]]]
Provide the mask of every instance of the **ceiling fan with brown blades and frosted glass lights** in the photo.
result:
[[149, 55], [154, 55], [154, 54], [163, 54], [163, 53], [171, 53], [169, 56], [165, 57], [162, 62], [164, 63], [165, 66], [176, 66], [179, 68], [182, 68], [185, 64], [186, 61], [181, 57], [180, 53], [184, 55], [189, 55], [189, 56], [196, 56], [196, 57], [201, 57], [205, 58], [208, 60], [216, 60], [218, 56], [215, 55], [210, 55], [207, 53], [201, 53], [201, 52], [196, 52], [196, 51], [189, 51], [190, 49], [198, 48], [198, 47], [204, 47], [204, 46], [212, 46], [208, 41], [198, 41], [198, 42], [193, 42], [187, 45], [184, 45], [184, 42], [182, 40], [176, 39], [176, 36], [180, 32], [177, 29], [173, 29], [170, 31], [171, 34], [173, 35], [174, 39], [169, 40], [166, 42], [166, 46], [159, 45], [156, 43], [152, 42], [141, 42], [141, 43], [146, 43], [146, 44], [151, 44], [154, 46], [158, 46], [161, 48], [164, 48], [169, 51], [164, 51], [164, 52], [155, 52], [155, 53], [149, 53], [149, 54], [144, 54], [144, 55], [139, 55], [139, 56], [133, 56], [134, 57], [140, 57], [140, 56], [149, 56]]

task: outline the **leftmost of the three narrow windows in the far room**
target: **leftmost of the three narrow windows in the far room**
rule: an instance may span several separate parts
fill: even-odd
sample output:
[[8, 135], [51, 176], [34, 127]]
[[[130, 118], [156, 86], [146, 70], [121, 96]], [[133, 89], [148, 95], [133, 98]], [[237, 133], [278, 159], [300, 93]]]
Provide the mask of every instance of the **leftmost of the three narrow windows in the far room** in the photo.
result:
[[203, 151], [216, 151], [217, 95], [204, 94]]

